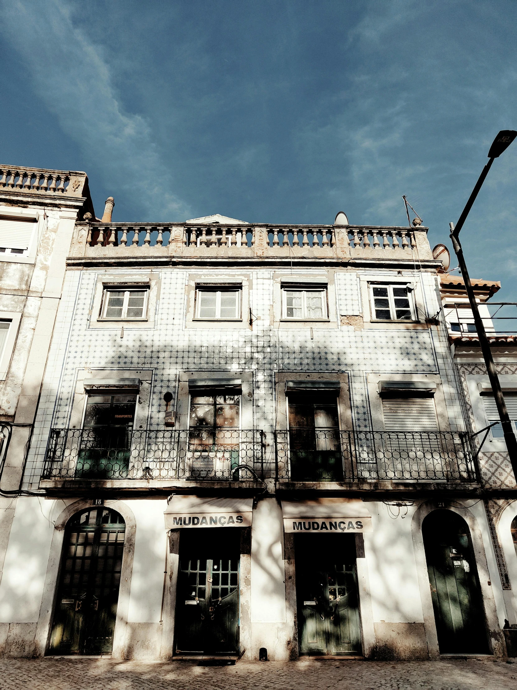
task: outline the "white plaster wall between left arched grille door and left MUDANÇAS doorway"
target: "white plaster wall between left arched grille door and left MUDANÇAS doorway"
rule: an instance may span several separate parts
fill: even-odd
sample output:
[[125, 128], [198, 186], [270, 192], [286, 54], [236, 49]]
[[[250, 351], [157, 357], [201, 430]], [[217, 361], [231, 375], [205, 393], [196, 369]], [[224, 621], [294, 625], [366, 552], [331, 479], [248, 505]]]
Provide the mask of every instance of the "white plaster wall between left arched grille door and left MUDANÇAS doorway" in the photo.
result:
[[136, 519], [128, 622], [160, 620], [167, 533], [163, 522], [166, 500], [125, 500]]

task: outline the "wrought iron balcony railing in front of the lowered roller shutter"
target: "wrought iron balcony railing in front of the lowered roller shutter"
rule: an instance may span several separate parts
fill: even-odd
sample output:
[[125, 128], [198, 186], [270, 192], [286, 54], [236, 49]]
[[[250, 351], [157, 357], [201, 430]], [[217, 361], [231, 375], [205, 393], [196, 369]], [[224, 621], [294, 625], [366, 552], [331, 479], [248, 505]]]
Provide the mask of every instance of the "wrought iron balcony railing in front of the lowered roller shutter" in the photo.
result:
[[278, 481], [478, 482], [465, 432], [296, 429], [275, 450]]

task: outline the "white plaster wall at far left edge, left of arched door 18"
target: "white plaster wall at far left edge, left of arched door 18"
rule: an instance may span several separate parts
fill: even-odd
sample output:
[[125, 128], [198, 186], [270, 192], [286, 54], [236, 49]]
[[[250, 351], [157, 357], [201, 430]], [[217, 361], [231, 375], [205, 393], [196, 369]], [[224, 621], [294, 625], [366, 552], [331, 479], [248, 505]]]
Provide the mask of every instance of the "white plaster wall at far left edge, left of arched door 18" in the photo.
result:
[[0, 622], [31, 623], [39, 618], [55, 503], [43, 497], [17, 499], [0, 581]]

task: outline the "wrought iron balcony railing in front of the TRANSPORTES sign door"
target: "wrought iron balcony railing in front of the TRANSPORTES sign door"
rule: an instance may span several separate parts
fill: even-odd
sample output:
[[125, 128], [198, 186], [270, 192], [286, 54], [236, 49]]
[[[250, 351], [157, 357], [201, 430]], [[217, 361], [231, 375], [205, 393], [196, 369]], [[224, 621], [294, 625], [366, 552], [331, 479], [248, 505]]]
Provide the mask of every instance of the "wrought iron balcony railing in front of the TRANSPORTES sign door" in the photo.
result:
[[263, 431], [231, 428], [53, 428], [42, 480], [254, 481]]

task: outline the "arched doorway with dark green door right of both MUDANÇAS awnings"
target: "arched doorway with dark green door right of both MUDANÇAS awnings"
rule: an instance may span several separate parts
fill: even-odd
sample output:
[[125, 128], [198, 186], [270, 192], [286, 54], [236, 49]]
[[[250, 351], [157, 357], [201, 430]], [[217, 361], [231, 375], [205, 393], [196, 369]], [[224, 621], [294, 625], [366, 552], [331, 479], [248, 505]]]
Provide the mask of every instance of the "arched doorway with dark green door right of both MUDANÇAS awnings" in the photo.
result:
[[440, 654], [487, 654], [483, 598], [470, 531], [453, 511], [429, 513], [422, 525]]

